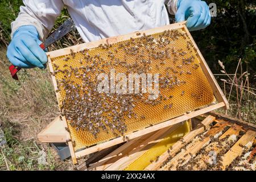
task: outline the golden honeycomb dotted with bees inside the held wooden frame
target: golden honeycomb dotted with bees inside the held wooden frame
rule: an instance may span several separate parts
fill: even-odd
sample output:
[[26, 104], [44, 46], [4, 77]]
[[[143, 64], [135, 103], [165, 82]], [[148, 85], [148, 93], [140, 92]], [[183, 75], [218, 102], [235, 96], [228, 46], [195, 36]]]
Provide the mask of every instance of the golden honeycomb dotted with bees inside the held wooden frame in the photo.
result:
[[[96, 82], [98, 74], [102, 72], [109, 73], [112, 68], [115, 69], [116, 75], [117, 73], [125, 73], [127, 75], [131, 71], [139, 72], [142, 70], [146, 73], [152, 73], [152, 75], [159, 73], [159, 97], [155, 102], [145, 102], [148, 93], [143, 94], [143, 99], [134, 95], [117, 96], [115, 94], [115, 98], [118, 98], [115, 100], [121, 100], [122, 97], [133, 97], [133, 117], [127, 116], [127, 114], [123, 117], [122, 122], [126, 125], [123, 133], [117, 131], [108, 132], [113, 129], [110, 129], [110, 125], [106, 125], [103, 122], [104, 126], [102, 127], [105, 130], [102, 127], [98, 129], [96, 137], [90, 132], [92, 129], [77, 129], [76, 126], [72, 125], [75, 121], [72, 121], [71, 118], [68, 118], [63, 113], [67, 119], [68, 130], [71, 134], [75, 151], [122, 135], [125, 136], [215, 101], [213, 90], [200, 67], [199, 55], [184, 28], [151, 35], [138, 33], [137, 36], [138, 38], [100, 45], [84, 51], [71, 51], [68, 55], [51, 59], [53, 71], [55, 71], [52, 74], [55, 75], [58, 86], [56, 92], [60, 93], [58, 98], [60, 108], [63, 107], [64, 103], [68, 105], [68, 101], [65, 98], [67, 98], [69, 92], [72, 92], [72, 89], [67, 92], [65, 84], [60, 84], [60, 81], [62, 83], [67, 81], [76, 85], [73, 86], [73, 89], [80, 88], [77, 94], [80, 94], [79, 97], [83, 97], [83, 94], [84, 96], [90, 94], [86, 90], [84, 81], [90, 79], [92, 82]], [[147, 65], [143, 61], [148, 61]], [[176, 82], [174, 86], [165, 86], [166, 80], [164, 79], [167, 75], [171, 75], [171, 78], [176, 78], [179, 84]], [[84, 85], [81, 86], [82, 84]], [[116, 101], [117, 103], [115, 103], [115, 100], [108, 96], [102, 96], [102, 98], [105, 98], [104, 102], [97, 101], [97, 103], [102, 104], [102, 107], [106, 103], [120, 105], [119, 102]], [[72, 101], [69, 107], [72, 107], [72, 111], [76, 112], [78, 101], [76, 102], [76, 98], [72, 98], [72, 100], [75, 101]], [[90, 105], [92, 103], [86, 102], [86, 104]], [[77, 108], [77, 111], [81, 111], [81, 108]], [[108, 114], [105, 114], [105, 117], [108, 117]], [[108, 121], [112, 122], [112, 118], [109, 118]], [[92, 121], [92, 126], [94, 127], [95, 125], [94, 121]]]

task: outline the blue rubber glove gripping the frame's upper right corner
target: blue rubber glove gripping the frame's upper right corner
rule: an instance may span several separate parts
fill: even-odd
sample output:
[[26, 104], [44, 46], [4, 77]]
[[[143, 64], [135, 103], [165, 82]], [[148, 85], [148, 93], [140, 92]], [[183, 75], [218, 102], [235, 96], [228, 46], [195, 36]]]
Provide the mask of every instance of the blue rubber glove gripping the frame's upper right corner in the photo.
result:
[[178, 0], [176, 22], [187, 20], [189, 31], [203, 29], [210, 24], [210, 11], [206, 2], [200, 0]]

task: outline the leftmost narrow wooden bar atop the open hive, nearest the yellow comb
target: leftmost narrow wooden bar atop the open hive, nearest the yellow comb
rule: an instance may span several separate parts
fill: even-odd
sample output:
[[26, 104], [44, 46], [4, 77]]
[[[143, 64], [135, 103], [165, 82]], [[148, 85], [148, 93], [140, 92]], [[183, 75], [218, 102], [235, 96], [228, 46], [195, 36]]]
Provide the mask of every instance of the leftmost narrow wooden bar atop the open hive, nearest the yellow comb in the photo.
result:
[[183, 137], [183, 140], [177, 141], [173, 146], [172, 150], [170, 151], [170, 154], [168, 154], [168, 151], [164, 152], [164, 154], [159, 156], [157, 163], [151, 163], [149, 166], [147, 166], [144, 170], [147, 171], [155, 171], [160, 168], [162, 163], [168, 158], [168, 156], [174, 155], [180, 148], [182, 148], [185, 144], [190, 142], [193, 138], [196, 137], [196, 135], [202, 133], [206, 129], [209, 129], [210, 123], [212, 123], [215, 120], [215, 117], [209, 115], [207, 118], [204, 119], [204, 121], [201, 122], [200, 125], [196, 127], [195, 130], [189, 132], [187, 135]]

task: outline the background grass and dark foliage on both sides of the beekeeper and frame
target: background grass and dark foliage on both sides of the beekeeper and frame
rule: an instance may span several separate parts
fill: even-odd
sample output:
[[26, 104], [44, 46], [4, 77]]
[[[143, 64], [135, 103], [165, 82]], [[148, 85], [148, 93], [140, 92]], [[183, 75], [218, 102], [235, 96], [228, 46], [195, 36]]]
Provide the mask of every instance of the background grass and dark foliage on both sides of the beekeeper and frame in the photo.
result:
[[[192, 32], [192, 36], [212, 72], [218, 74], [216, 78], [229, 98], [231, 109], [228, 114], [255, 122], [256, 2], [207, 2], [217, 4], [217, 16], [212, 18], [208, 28]], [[19, 81], [10, 77], [6, 47], [10, 42], [10, 23], [18, 15], [20, 5], [22, 0], [0, 1], [0, 129], [7, 140], [6, 146], [0, 147], [0, 170], [69, 169], [70, 160], [57, 160], [51, 147], [36, 140], [36, 134], [58, 113], [48, 69], [23, 70], [19, 73]], [[63, 10], [56, 20], [55, 28], [67, 16], [67, 10]], [[74, 31], [49, 49], [81, 42], [79, 34]], [[39, 162], [42, 155], [45, 155], [46, 163]]]

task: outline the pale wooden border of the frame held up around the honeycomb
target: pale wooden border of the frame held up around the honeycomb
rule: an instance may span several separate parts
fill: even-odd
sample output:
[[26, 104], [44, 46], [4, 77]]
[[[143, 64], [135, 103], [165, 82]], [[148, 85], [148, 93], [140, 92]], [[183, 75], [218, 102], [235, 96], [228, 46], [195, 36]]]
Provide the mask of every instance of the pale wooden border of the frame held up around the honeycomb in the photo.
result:
[[[56, 51], [48, 52], [47, 56], [48, 56], [49, 69], [50, 69], [51, 72], [53, 72], [51, 59], [53, 59], [55, 57], [67, 55], [71, 52], [71, 49], [72, 49], [73, 52], [79, 52], [79, 51], [82, 51], [85, 48], [88, 48], [88, 49], [96, 48], [100, 44], [113, 44], [113, 43], [121, 42], [123, 40], [129, 40], [130, 38], [138, 38], [138, 36], [136, 35], [138, 32], [140, 32], [141, 34], [145, 33], [146, 35], [150, 35], [150, 34], [156, 34], [156, 33], [159, 33], [159, 32], [163, 32], [165, 30], [174, 30], [174, 29], [177, 29], [177, 28], [184, 28], [185, 32], [187, 32], [189, 38], [191, 39], [191, 41], [193, 43], [193, 46], [196, 49], [195, 51], [199, 55], [198, 57], [199, 57], [199, 60], [200, 60], [201, 69], [203, 70], [205, 77], [207, 77], [207, 80], [208, 80], [210, 86], [212, 87], [213, 94], [216, 97], [216, 100], [218, 101], [218, 103], [207, 106], [207, 107], [204, 107], [203, 109], [191, 111], [191, 113], [180, 115], [179, 117], [169, 119], [167, 121], [158, 123], [156, 125], [146, 127], [144, 129], [141, 129], [141, 130], [138, 130], [138, 131], [134, 131], [133, 133], [127, 134], [126, 136], [129, 137], [129, 139], [137, 138], [137, 137], [140, 137], [144, 134], [151, 133], [152, 131], [163, 129], [164, 127], [167, 127], [167, 126], [175, 125], [176, 123], [183, 122], [187, 119], [196, 117], [197, 115], [207, 113], [209, 111], [218, 109], [220, 107], [224, 107], [225, 109], [229, 109], [229, 104], [228, 104], [228, 101], [226, 100], [226, 98], [224, 96], [224, 93], [222, 92], [220, 86], [217, 84], [217, 81], [215, 80], [215, 78], [214, 78], [212, 72], [210, 71], [206, 61], [204, 60], [203, 55], [199, 51], [199, 48], [196, 46], [195, 41], [193, 40], [193, 38], [192, 38], [191, 34], [189, 33], [187, 27], [185, 26], [185, 22], [174, 23], [174, 24], [170, 24], [170, 25], [167, 25], [167, 26], [164, 26], [164, 27], [152, 28], [150, 30], [145, 30], [145, 31], [137, 31], [137, 32], [133, 32], [131, 34], [126, 34], [126, 35], [115, 36], [115, 37], [112, 37], [112, 38], [101, 39], [101, 40], [98, 40], [98, 41], [95, 41], [95, 42], [79, 44], [79, 45], [76, 45], [76, 46], [72, 46], [72, 47], [63, 48], [63, 49], [59, 49], [59, 50], [56, 50]], [[53, 75], [52, 75], [52, 80], [53, 80], [53, 86], [54, 86], [55, 90], [57, 90], [56, 78]], [[60, 93], [56, 92], [56, 97], [59, 98]], [[68, 127], [67, 120], [65, 119], [65, 117], [63, 117], [63, 121], [64, 121], [65, 127]], [[71, 136], [67, 132], [67, 139], [70, 139], [70, 138], [71, 138]], [[69, 149], [71, 151], [71, 156], [72, 156], [73, 163], [76, 164], [77, 163], [77, 158], [81, 158], [82, 156], [91, 154], [91, 153], [96, 152], [96, 151], [100, 151], [102, 149], [114, 146], [115, 144], [119, 144], [119, 143], [122, 143], [122, 142], [123, 142], [123, 138], [118, 137], [118, 138], [108, 140], [107, 142], [100, 143], [100, 144], [94, 145], [92, 147], [89, 147], [89, 148], [86, 148], [84, 150], [77, 151], [77, 152], [75, 152], [71, 141], [68, 142], [68, 145], [69, 145]]]

